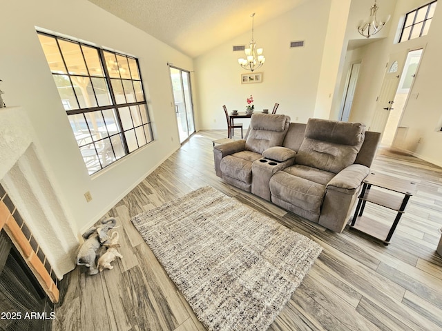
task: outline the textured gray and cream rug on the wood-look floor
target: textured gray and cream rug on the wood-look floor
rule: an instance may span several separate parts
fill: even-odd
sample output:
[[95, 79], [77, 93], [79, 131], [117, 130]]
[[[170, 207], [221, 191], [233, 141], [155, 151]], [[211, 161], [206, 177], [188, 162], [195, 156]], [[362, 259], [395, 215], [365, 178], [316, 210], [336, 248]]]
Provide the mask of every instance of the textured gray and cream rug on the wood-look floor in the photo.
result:
[[322, 250], [210, 186], [132, 222], [209, 330], [267, 330]]

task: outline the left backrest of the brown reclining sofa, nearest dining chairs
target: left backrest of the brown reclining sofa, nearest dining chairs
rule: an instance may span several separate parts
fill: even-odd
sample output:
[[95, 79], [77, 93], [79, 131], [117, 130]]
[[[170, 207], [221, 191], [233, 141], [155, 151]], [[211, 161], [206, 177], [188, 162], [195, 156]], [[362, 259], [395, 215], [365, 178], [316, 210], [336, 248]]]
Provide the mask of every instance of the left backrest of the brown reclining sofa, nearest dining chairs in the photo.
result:
[[290, 125], [290, 117], [282, 114], [253, 114], [245, 149], [262, 154], [267, 148], [281, 146]]

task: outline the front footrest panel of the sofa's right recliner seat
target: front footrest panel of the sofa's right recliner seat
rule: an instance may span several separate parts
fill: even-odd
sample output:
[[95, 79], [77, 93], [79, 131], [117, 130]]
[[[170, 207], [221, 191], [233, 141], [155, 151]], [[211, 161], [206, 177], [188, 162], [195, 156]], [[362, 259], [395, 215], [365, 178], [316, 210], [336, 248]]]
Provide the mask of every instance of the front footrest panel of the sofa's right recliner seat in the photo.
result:
[[282, 170], [271, 177], [270, 192], [272, 201], [274, 198], [287, 201], [296, 208], [319, 215], [325, 195], [325, 185], [296, 177]]

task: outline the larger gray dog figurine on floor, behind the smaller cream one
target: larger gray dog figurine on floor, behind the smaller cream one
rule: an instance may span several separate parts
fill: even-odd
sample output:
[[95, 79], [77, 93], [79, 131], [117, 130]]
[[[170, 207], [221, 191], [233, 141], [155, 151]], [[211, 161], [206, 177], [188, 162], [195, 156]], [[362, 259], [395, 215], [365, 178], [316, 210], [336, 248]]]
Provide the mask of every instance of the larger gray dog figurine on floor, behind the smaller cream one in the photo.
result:
[[102, 221], [97, 227], [92, 227], [83, 234], [84, 243], [81, 244], [77, 260], [77, 265], [86, 265], [89, 268], [89, 274], [97, 274], [98, 269], [95, 263], [97, 251], [104, 243], [109, 241], [108, 230], [115, 228], [117, 220], [114, 218]]

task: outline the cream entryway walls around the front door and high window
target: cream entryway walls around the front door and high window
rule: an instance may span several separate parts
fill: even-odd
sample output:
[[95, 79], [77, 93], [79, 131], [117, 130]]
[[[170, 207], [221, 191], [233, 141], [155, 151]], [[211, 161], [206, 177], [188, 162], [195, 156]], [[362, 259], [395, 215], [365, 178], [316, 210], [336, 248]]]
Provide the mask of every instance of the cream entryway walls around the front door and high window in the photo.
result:
[[[359, 0], [358, 0], [359, 1]], [[380, 39], [367, 46], [347, 52], [345, 60], [345, 68], [343, 69], [344, 79], [347, 74], [349, 65], [354, 61], [362, 61], [361, 72], [358, 79], [358, 86], [355, 91], [352, 113], [349, 121], [358, 121], [370, 126], [374, 110], [376, 107], [376, 97], [381, 91], [383, 76], [385, 74], [385, 64], [390, 54], [400, 52], [402, 50], [414, 50], [424, 48], [423, 57], [419, 67], [419, 72], [414, 80], [410, 95], [418, 94], [418, 99], [409, 99], [405, 105], [403, 117], [399, 126], [407, 128], [407, 134], [403, 138], [401, 146], [407, 152], [411, 152], [416, 157], [430, 161], [436, 165], [442, 165], [442, 155], [438, 152], [442, 143], [442, 112], [440, 105], [442, 103], [442, 95], [439, 84], [442, 74], [442, 66], [440, 63], [440, 54], [442, 51], [441, 32], [442, 32], [442, 10], [436, 9], [430, 32], [427, 36], [412, 39], [403, 43], [396, 43], [396, 36], [400, 29], [400, 22], [405, 13], [410, 12], [423, 6], [426, 0], [397, 0], [396, 7], [391, 12], [392, 19], [387, 24], [388, 34], [381, 31]], [[381, 6], [381, 3], [379, 3]], [[351, 29], [350, 26], [347, 29]], [[385, 26], [387, 28], [387, 26]], [[356, 29], [354, 29], [356, 31]], [[377, 34], [376, 34], [377, 36]], [[352, 37], [349, 37], [351, 39]], [[342, 85], [340, 86], [342, 90]], [[340, 94], [339, 98], [342, 97]], [[338, 116], [338, 101], [334, 102], [332, 114]], [[420, 143], [418, 141], [421, 141]]]

